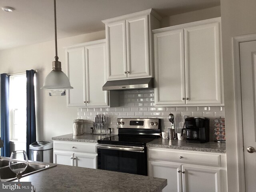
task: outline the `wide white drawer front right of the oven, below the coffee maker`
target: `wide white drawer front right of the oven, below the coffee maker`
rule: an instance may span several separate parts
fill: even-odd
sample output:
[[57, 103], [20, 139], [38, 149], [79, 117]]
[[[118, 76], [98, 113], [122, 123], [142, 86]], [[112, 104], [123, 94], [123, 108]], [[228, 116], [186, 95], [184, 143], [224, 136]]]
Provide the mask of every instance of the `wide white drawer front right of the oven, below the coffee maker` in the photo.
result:
[[203, 154], [173, 150], [148, 149], [148, 158], [182, 163], [220, 166], [219, 154]]

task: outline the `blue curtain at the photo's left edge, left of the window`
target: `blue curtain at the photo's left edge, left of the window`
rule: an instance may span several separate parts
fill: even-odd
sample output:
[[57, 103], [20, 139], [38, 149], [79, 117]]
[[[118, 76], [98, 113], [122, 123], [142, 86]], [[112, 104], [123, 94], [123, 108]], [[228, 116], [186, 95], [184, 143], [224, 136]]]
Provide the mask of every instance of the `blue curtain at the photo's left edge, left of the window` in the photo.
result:
[[0, 74], [0, 102], [1, 102], [1, 139], [4, 147], [1, 156], [10, 157], [10, 129], [9, 129], [9, 81], [6, 73]]

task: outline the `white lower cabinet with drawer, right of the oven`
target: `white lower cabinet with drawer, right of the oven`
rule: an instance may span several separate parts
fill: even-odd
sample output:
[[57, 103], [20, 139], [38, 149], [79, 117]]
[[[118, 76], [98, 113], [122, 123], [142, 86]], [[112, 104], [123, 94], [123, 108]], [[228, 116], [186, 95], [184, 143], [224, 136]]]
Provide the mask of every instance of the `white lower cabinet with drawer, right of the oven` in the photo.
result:
[[148, 159], [148, 176], [167, 179], [162, 192], [227, 191], [226, 154], [149, 148]]

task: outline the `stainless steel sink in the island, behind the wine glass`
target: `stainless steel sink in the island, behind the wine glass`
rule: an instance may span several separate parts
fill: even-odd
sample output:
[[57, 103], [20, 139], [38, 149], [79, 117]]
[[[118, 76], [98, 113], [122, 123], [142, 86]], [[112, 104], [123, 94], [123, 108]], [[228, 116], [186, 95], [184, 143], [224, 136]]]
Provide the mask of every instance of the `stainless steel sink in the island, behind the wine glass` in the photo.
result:
[[[56, 164], [50, 165], [50, 164], [44, 163], [44, 162], [29, 161], [28, 167], [22, 173], [22, 177], [30, 175], [30, 174], [34, 174], [36, 172], [40, 172], [42, 170], [46, 170], [48, 168], [52, 168], [55, 166], [57, 166], [57, 165]], [[12, 172], [12, 170], [10, 170], [10, 167], [9, 167], [9, 158], [0, 159], [0, 178], [1, 178], [2, 182], [16, 180], [16, 174], [14, 172]]]

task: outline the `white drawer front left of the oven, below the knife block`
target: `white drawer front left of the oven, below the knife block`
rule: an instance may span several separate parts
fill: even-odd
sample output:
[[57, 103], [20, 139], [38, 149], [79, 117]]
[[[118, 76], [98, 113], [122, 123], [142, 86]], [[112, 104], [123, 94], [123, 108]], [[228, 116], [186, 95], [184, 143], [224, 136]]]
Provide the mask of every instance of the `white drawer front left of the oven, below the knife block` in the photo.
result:
[[54, 142], [54, 150], [66, 150], [71, 152], [97, 153], [97, 144], [81, 142]]

